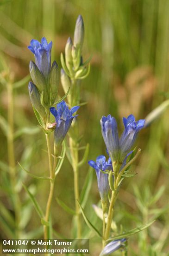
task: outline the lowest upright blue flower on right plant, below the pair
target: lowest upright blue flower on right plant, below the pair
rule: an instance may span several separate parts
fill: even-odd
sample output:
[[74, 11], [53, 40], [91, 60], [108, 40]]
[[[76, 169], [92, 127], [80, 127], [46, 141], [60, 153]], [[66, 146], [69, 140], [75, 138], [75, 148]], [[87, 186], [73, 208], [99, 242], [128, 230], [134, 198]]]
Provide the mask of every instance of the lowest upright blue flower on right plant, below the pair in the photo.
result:
[[108, 182], [108, 174], [102, 173], [100, 170], [112, 170], [113, 168], [111, 159], [109, 157], [108, 161], [106, 162], [106, 157], [104, 155], [100, 155], [97, 157], [96, 162], [91, 160], [88, 161], [88, 164], [96, 171], [100, 197], [103, 202], [106, 202], [108, 199], [108, 192], [110, 189]]

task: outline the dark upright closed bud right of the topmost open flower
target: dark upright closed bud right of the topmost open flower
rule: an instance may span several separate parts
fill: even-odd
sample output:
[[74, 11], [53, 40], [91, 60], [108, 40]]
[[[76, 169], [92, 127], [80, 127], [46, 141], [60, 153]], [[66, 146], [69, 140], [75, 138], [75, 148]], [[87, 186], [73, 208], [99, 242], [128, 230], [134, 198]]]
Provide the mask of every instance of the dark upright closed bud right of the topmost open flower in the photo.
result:
[[52, 97], [51, 100], [54, 102], [56, 100], [56, 96], [58, 92], [59, 78], [60, 78], [59, 67], [56, 61], [53, 61], [51, 71], [50, 71], [50, 89], [51, 89], [51, 97]]

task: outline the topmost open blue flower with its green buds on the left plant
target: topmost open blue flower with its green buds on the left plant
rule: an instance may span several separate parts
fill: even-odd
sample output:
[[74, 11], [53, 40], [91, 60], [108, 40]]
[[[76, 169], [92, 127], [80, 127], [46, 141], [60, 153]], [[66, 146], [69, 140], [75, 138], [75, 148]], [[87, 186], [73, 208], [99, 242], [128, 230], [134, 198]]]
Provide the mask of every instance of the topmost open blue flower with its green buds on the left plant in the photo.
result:
[[[52, 42], [48, 44], [45, 37], [42, 38], [41, 42], [32, 39], [28, 48], [35, 56], [35, 63], [30, 61], [29, 65], [31, 79], [33, 81], [28, 87], [31, 103], [41, 119], [45, 122], [46, 118], [39, 113], [39, 108], [42, 108], [40, 105], [43, 106], [47, 113], [48, 108], [56, 102], [57, 88], [59, 85], [59, 68], [56, 61], [51, 66]], [[32, 87], [35, 88], [33, 91]], [[34, 95], [34, 91], [39, 94], [38, 97]]]

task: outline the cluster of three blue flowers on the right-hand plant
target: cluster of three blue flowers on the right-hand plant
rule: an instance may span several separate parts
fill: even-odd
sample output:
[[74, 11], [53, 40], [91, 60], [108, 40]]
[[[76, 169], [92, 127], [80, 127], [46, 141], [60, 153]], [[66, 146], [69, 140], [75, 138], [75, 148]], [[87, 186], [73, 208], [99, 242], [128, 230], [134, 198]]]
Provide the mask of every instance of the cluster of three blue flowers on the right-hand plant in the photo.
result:
[[[119, 162], [119, 172], [125, 167], [127, 157], [133, 152], [131, 148], [137, 138], [138, 132], [144, 127], [144, 121], [145, 120], [135, 121], [133, 115], [123, 118], [125, 129], [119, 139], [115, 118], [111, 115], [108, 115], [107, 117], [103, 116], [101, 118], [101, 132], [110, 157], [106, 162], [106, 157], [100, 155], [97, 157], [96, 162], [89, 161], [88, 164], [96, 171], [98, 188], [102, 202], [106, 202], [108, 199], [110, 180], [108, 179], [107, 173], [110, 170], [113, 171], [112, 162]], [[106, 170], [107, 173], [102, 172]]]

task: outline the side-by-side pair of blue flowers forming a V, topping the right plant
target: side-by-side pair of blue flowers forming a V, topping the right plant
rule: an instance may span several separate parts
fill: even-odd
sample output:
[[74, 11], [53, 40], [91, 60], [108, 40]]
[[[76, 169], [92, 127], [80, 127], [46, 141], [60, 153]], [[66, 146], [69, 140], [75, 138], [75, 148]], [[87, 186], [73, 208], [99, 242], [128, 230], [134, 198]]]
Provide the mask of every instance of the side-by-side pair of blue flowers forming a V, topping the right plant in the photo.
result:
[[144, 119], [135, 121], [133, 115], [123, 118], [125, 130], [119, 139], [117, 122], [111, 115], [102, 116], [101, 132], [111, 159], [122, 162], [136, 141], [138, 132], [144, 127]]

